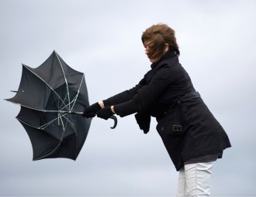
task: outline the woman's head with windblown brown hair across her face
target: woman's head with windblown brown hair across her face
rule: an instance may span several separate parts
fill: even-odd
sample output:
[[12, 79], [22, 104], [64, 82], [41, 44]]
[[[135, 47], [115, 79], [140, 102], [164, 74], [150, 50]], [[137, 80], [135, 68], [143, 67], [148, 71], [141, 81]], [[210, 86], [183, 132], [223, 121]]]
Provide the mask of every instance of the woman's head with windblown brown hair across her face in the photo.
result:
[[157, 62], [169, 49], [179, 55], [175, 31], [168, 25], [152, 25], [143, 32], [141, 40], [146, 48], [146, 54], [152, 63]]

